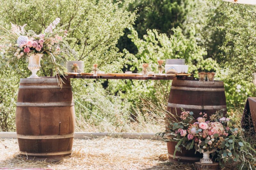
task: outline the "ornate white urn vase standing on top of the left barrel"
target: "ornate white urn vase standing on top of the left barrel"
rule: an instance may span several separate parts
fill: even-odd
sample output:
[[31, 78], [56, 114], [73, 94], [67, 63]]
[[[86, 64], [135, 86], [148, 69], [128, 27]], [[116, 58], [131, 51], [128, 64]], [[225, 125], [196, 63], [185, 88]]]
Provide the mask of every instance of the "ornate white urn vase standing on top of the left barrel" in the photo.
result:
[[40, 70], [41, 65], [40, 61], [43, 54], [30, 54], [28, 57], [28, 69], [32, 72], [32, 75], [30, 75], [28, 78], [38, 78], [38, 75], [36, 75], [36, 72]]

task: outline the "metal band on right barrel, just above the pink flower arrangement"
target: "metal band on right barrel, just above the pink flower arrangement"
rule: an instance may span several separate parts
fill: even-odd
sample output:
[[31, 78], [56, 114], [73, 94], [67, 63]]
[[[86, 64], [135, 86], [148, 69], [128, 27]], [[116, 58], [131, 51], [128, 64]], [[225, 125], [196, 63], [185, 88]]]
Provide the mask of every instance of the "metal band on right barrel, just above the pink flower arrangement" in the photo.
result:
[[172, 108], [184, 108], [184, 109], [200, 109], [200, 110], [220, 110], [226, 109], [226, 105], [219, 106], [201, 106], [201, 105], [188, 105], [188, 104], [176, 104], [176, 103], [168, 103], [168, 107]]

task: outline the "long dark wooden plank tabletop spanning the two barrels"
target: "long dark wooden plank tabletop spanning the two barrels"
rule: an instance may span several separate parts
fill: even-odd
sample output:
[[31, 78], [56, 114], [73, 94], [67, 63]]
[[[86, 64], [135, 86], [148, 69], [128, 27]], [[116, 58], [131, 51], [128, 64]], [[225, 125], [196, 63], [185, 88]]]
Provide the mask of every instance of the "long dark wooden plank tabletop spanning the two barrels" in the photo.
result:
[[90, 76], [90, 75], [65, 75], [70, 79], [127, 79], [127, 80], [193, 80], [192, 76], [163, 76], [163, 77], [135, 77], [135, 76]]

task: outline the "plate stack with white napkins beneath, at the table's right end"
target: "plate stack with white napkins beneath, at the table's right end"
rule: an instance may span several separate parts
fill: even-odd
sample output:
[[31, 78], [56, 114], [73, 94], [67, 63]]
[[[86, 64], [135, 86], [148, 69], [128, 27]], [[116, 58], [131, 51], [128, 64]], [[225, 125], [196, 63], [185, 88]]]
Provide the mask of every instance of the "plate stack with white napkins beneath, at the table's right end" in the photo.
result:
[[166, 59], [165, 73], [188, 73], [188, 65], [185, 65], [185, 59]]

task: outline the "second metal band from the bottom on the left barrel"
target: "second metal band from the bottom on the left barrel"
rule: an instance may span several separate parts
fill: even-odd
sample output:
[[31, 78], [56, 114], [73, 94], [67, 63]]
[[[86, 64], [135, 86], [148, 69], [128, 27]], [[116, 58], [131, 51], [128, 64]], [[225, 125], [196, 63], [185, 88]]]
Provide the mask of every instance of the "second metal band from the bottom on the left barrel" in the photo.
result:
[[74, 133], [65, 134], [65, 135], [20, 135], [17, 134], [17, 138], [20, 139], [63, 139], [63, 138], [72, 138]]

